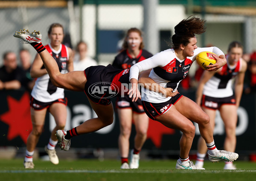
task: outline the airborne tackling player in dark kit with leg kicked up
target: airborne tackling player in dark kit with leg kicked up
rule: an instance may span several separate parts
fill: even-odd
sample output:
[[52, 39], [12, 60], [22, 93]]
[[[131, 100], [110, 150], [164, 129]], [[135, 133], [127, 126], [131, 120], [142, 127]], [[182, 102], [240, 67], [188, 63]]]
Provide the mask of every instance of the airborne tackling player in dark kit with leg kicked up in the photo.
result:
[[[78, 133], [84, 134], [95, 132], [105, 126], [112, 124], [113, 105], [111, 103], [111, 97], [117, 94], [125, 94], [128, 92], [128, 89], [124, 89], [124, 87], [122, 87], [122, 83], [129, 83], [129, 69], [115, 69], [111, 65], [106, 67], [90, 66], [84, 71], [73, 71], [66, 74], [61, 74], [55, 60], [42, 45], [40, 32], [29, 33], [28, 30], [20, 30], [20, 32], [16, 32], [14, 36], [22, 39], [22, 43], [25, 42], [31, 44], [37, 50], [38, 54], [44, 62], [44, 66], [47, 69], [47, 72], [49, 73], [49, 77], [55, 86], [73, 91], [84, 91], [89, 98], [88, 100], [90, 105], [98, 115], [98, 118], [85, 121], [83, 124], [81, 124], [83, 126], [80, 125], [76, 127], [73, 129], [71, 134], [78, 135]], [[94, 92], [94, 94], [92, 94], [90, 88], [95, 83], [99, 83], [97, 84], [97, 86], [99, 86], [99, 90], [101, 89], [101, 86], [105, 86], [105, 83], [111, 83], [111, 87], [116, 85], [117, 89], [123, 90], [124, 92], [119, 91], [116, 92], [115, 95], [111, 95], [110, 92]], [[177, 92], [172, 93], [172, 89], [168, 88], [166, 89], [166, 92], [169, 92], [168, 95], [170, 96], [177, 94]], [[137, 97], [134, 98], [134, 101], [137, 101], [139, 97], [140, 92], [137, 90]], [[64, 145], [61, 148], [68, 150], [69, 144]]]

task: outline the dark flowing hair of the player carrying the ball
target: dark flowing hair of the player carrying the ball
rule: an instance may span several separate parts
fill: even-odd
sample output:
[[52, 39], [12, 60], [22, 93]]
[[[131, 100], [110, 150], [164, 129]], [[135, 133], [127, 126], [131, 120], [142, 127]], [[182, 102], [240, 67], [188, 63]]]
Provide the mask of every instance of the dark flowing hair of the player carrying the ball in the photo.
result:
[[175, 34], [172, 35], [172, 43], [168, 43], [173, 49], [178, 49], [181, 44], [186, 46], [189, 43], [189, 39], [195, 37], [195, 34], [202, 34], [205, 32], [206, 27], [204, 23], [206, 20], [201, 20], [194, 15], [180, 21], [174, 29]]

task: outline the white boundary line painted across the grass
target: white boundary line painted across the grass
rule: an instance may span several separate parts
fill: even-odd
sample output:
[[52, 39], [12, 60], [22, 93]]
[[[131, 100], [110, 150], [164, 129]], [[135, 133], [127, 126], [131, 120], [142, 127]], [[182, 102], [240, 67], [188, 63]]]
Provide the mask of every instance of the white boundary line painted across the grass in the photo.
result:
[[0, 173], [221, 173], [256, 172], [256, 170], [0, 170]]

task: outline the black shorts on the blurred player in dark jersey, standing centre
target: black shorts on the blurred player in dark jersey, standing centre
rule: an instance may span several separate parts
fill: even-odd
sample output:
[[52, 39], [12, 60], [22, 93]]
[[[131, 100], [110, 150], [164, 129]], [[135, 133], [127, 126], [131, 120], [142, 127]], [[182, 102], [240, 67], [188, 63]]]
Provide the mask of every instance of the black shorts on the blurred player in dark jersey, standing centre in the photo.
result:
[[117, 97], [116, 108], [119, 108], [119, 109], [130, 108], [132, 109], [132, 111], [137, 112], [139, 114], [144, 113], [141, 99], [138, 99], [136, 102], [135, 101], [133, 102], [128, 95], [125, 95], [124, 97]]

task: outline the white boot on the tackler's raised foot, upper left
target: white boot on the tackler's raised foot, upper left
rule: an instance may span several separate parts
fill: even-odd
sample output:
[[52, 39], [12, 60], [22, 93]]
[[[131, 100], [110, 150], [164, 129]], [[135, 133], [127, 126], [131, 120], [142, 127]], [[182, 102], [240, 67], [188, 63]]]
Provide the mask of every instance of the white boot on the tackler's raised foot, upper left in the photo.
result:
[[42, 34], [40, 32], [34, 31], [34, 32], [29, 32], [29, 30], [21, 30], [16, 31], [15, 34], [13, 34], [14, 37], [20, 38], [21, 43], [40, 43]]

